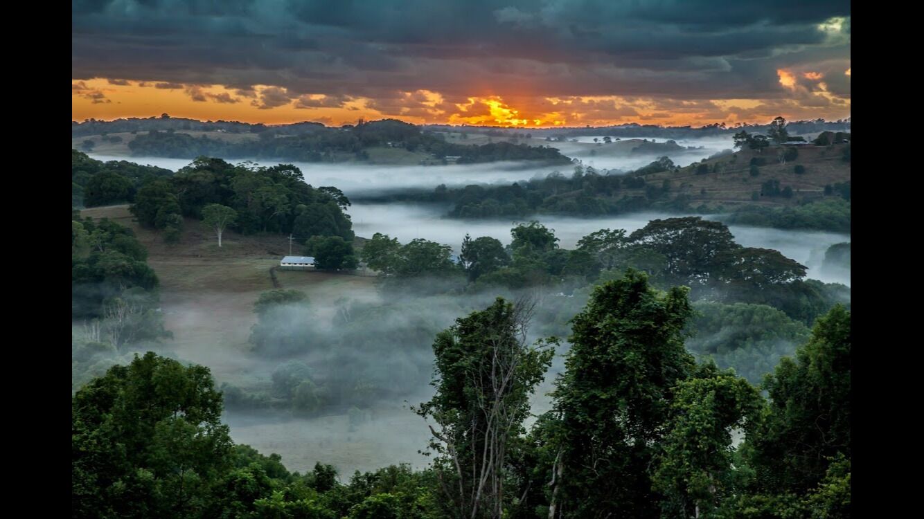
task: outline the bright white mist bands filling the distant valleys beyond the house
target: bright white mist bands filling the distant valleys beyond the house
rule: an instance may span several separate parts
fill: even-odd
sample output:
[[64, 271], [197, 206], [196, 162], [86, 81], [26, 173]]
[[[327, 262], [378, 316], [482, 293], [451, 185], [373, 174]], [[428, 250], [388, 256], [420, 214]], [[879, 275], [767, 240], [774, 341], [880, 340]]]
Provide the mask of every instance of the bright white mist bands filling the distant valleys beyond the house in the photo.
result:
[[[577, 139], [591, 139], [581, 137]], [[721, 151], [730, 141], [724, 137], [695, 139], [678, 144], [692, 146], [699, 143], [706, 149], [696, 151], [698, 158], [708, 156], [711, 151]], [[556, 145], [567, 145], [568, 142], [556, 142]], [[125, 160], [125, 157], [104, 155], [91, 155], [101, 161]], [[161, 157], [135, 157], [132, 162], [152, 164], [176, 171], [186, 165], [185, 159], [168, 159]], [[650, 157], [640, 163], [633, 163], [635, 159], [627, 158], [620, 163], [626, 169], [632, 169], [650, 162]], [[634, 165], [630, 165], [634, 164]], [[269, 165], [264, 164], [264, 165]], [[518, 180], [528, 179], [532, 176], [545, 176], [554, 171], [548, 166], [530, 169], [524, 163], [489, 163], [475, 165], [448, 165], [448, 166], [358, 166], [346, 164], [319, 164], [295, 163], [302, 171], [305, 181], [312, 186], [334, 186], [353, 197], [358, 195], [371, 195], [386, 193], [388, 191], [406, 190], [412, 188], [432, 189], [445, 184], [446, 186], [465, 186], [468, 184], [508, 184]], [[612, 166], [617, 167], [617, 166]], [[511, 221], [466, 221], [460, 224], [457, 220], [443, 218], [447, 207], [427, 204], [364, 204], [354, 203], [349, 209], [352, 217], [354, 231], [357, 235], [370, 237], [375, 233], [383, 233], [407, 242], [415, 238], [442, 243], [454, 247], [458, 252], [459, 244], [464, 235], [472, 237], [492, 236], [505, 241], [509, 238]], [[659, 215], [654, 213], [635, 213], [603, 218], [569, 218], [537, 216], [534, 219], [555, 229], [555, 234], [561, 239], [560, 246], [574, 247], [581, 236], [602, 229], [625, 229], [632, 232], [641, 228], [650, 220], [667, 218], [676, 215]], [[713, 217], [721, 219], [721, 217]], [[741, 245], [745, 247], [762, 247], [779, 250], [784, 256], [796, 259], [808, 267], [808, 277], [819, 279], [826, 283], [842, 283], [849, 286], [850, 279], [844, 272], [822, 272], [821, 261], [828, 247], [833, 244], [849, 242], [849, 235], [825, 233], [815, 231], [783, 231], [778, 229], [730, 226], [730, 229]]]

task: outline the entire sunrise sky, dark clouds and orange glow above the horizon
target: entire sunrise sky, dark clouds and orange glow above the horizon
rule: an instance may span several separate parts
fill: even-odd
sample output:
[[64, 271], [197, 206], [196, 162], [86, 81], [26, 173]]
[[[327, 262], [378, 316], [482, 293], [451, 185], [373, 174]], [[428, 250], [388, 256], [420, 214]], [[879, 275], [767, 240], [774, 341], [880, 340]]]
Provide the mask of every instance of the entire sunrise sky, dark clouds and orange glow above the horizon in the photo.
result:
[[72, 119], [850, 116], [850, 2], [73, 0]]

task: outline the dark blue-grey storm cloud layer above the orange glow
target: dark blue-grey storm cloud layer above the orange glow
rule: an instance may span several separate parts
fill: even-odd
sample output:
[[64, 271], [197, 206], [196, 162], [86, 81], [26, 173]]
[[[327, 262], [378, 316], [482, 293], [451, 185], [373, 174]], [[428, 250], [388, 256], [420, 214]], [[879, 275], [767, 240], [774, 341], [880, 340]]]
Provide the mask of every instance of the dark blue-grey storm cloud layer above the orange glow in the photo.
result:
[[[849, 16], [849, 1], [84, 1], [72, 76], [284, 89], [261, 108], [418, 90], [782, 98], [777, 68], [849, 64]], [[839, 33], [819, 29], [833, 17]]]

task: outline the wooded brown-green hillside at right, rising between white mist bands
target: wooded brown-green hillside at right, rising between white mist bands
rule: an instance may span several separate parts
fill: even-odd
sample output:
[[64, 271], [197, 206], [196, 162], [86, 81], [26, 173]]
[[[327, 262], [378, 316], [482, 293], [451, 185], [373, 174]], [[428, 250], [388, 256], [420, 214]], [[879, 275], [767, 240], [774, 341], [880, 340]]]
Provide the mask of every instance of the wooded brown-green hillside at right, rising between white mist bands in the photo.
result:
[[627, 175], [577, 165], [510, 186], [437, 187], [379, 201], [453, 204], [457, 218], [596, 216], [633, 211], [730, 212], [728, 221], [850, 232], [850, 144], [768, 148], [676, 167], [667, 157]]

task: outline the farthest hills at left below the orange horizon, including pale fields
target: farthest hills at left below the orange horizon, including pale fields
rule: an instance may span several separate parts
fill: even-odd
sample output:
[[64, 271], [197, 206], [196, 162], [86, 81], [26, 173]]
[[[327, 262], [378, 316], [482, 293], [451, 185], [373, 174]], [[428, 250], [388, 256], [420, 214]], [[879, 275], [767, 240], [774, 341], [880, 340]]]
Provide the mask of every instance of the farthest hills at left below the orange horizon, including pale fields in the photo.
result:
[[314, 123], [265, 127], [172, 118], [90, 121], [72, 127], [71, 146], [106, 154], [183, 159], [205, 155], [310, 163], [569, 163], [553, 147], [509, 142], [467, 146], [446, 142], [442, 135], [394, 119], [339, 128]]

